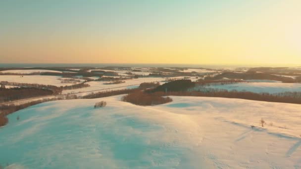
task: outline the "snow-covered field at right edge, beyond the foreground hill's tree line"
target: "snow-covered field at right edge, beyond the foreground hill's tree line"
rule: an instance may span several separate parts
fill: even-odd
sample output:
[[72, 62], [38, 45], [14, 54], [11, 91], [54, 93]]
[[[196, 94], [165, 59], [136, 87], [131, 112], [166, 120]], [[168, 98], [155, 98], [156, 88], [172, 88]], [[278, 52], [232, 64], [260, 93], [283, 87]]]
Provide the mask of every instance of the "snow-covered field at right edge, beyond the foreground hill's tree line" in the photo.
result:
[[[206, 88], [225, 89], [225, 90], [237, 90], [237, 91], [251, 91], [255, 93], [280, 93], [286, 91], [301, 91], [301, 84], [286, 84], [286, 83], [237, 83], [237, 84], [224, 84], [224, 85], [210, 85], [205, 86]], [[192, 90], [198, 90], [203, 88], [197, 86]]]

